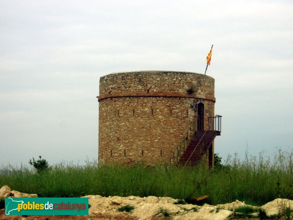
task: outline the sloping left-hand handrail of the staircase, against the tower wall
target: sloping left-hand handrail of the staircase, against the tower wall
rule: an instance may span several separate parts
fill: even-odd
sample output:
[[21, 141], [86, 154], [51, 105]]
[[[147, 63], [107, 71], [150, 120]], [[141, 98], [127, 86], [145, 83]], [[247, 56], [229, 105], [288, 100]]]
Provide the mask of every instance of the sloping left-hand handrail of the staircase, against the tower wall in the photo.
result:
[[[179, 144], [175, 147], [173, 153], [171, 154], [170, 157], [170, 164], [172, 163], [172, 158], [173, 158], [173, 164], [175, 163], [175, 154], [176, 154], [176, 162], [178, 164], [178, 156], [181, 157], [181, 155], [185, 152], [187, 149], [190, 141], [193, 139], [195, 132], [197, 131], [197, 121], [198, 121], [198, 115], [195, 116], [195, 119], [191, 123], [191, 125], [188, 128], [188, 131], [186, 132], [186, 136], [184, 136]], [[189, 138], [188, 138], [189, 137]]]

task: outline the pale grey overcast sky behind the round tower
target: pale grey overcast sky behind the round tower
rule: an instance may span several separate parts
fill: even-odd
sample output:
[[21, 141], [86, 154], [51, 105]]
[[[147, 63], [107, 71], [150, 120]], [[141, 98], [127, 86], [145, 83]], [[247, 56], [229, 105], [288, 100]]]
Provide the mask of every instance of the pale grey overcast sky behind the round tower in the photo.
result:
[[0, 0], [0, 164], [98, 157], [99, 79], [215, 79], [215, 152], [293, 148], [293, 1]]

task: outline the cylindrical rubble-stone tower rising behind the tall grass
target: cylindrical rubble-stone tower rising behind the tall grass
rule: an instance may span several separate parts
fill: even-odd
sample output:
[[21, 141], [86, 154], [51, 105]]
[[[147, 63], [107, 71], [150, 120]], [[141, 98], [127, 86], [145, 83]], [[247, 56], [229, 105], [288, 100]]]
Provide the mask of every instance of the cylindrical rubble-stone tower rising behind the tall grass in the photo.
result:
[[112, 73], [100, 78], [98, 101], [99, 163], [165, 163], [196, 115], [198, 129], [207, 129], [214, 79], [178, 71]]

